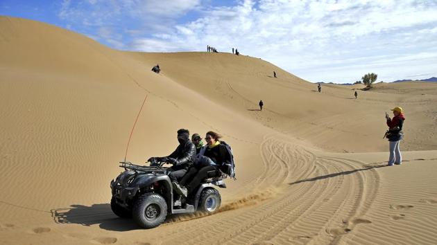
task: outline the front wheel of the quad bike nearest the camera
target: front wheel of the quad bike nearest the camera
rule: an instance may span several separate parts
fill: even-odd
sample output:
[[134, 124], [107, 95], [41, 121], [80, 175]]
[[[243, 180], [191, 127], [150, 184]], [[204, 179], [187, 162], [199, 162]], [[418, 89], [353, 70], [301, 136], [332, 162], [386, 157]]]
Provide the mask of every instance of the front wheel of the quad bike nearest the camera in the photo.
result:
[[164, 222], [167, 204], [159, 194], [146, 193], [137, 199], [132, 209], [132, 218], [139, 226], [155, 228]]

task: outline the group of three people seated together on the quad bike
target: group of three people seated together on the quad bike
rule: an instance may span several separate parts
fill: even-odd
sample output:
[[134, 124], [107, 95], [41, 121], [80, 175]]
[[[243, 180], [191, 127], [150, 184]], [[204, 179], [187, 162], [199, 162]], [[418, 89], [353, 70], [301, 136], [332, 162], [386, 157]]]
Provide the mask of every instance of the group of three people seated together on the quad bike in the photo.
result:
[[233, 165], [232, 151], [227, 143], [220, 140], [222, 136], [208, 131], [205, 136], [207, 145], [203, 145], [199, 134], [189, 139], [188, 129], [178, 130], [179, 145], [173, 153], [165, 157], [151, 157], [149, 162], [165, 161], [173, 166], [169, 168], [169, 178], [178, 194], [187, 197], [207, 178], [208, 172], [229, 173]]

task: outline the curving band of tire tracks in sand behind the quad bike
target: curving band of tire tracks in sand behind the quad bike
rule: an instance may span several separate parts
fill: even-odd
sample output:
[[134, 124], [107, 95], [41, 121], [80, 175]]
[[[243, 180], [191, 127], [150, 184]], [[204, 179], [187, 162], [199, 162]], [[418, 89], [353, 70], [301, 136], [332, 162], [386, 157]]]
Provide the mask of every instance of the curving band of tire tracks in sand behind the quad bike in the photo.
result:
[[354, 237], [356, 226], [371, 222], [363, 216], [375, 199], [375, 170], [314, 154], [277, 135], [266, 136], [260, 150], [263, 172], [248, 189], [279, 188], [280, 194], [261, 205], [189, 221], [163, 243], [339, 244]]

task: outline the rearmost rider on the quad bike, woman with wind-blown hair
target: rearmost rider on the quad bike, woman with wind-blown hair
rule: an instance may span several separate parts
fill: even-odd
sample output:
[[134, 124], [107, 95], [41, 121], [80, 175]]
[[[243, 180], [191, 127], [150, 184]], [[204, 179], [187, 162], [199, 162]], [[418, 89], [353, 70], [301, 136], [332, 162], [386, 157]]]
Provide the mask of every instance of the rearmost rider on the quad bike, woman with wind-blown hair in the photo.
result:
[[208, 172], [216, 171], [217, 175], [221, 175], [220, 170], [228, 172], [226, 167], [230, 165], [232, 159], [230, 152], [225, 147], [227, 144], [219, 140], [221, 137], [214, 131], [207, 132], [205, 137], [207, 145], [196, 156], [194, 165], [189, 168], [179, 184], [173, 182], [173, 188], [176, 192], [187, 197], [200, 185], [203, 179], [207, 178]]

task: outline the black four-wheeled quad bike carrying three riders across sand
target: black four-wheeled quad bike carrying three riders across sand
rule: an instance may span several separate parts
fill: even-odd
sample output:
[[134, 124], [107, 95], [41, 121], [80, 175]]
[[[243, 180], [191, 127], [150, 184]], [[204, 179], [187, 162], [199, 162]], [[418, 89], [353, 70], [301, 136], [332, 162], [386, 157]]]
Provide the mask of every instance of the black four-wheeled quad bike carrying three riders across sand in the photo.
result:
[[143, 228], [155, 228], [167, 214], [218, 210], [221, 196], [214, 186], [226, 188], [226, 174], [220, 170], [208, 172], [203, 183], [185, 198], [173, 191], [165, 163], [165, 158], [153, 160], [149, 166], [120, 162], [125, 171], [111, 181], [112, 212], [122, 218], [132, 217]]

